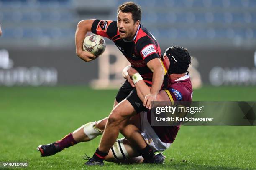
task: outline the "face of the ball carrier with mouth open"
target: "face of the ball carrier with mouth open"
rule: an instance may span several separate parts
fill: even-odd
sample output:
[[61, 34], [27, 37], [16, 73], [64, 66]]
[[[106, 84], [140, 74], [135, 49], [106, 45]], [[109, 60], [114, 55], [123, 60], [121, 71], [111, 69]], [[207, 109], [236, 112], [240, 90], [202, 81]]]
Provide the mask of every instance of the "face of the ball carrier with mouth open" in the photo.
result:
[[122, 39], [133, 40], [139, 24], [140, 21], [134, 23], [132, 13], [123, 13], [119, 11], [117, 26]]

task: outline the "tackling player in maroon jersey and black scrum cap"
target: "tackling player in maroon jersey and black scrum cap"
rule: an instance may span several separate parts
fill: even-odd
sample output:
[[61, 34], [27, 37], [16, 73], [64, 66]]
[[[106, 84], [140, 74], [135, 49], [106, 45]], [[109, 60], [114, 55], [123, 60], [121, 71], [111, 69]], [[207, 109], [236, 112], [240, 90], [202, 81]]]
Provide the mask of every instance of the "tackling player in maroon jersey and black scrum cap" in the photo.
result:
[[[187, 74], [190, 60], [191, 57], [189, 53], [182, 47], [173, 46], [166, 50], [163, 61], [168, 69], [170, 82], [168, 88], [161, 90], [157, 95], [158, 101], [172, 102], [176, 100], [192, 100], [192, 85], [189, 75]], [[133, 76], [138, 73], [132, 67], [129, 68], [128, 72], [129, 75], [126, 74], [125, 77]], [[148, 87], [144, 81], [138, 81], [135, 86], [138, 96], [143, 100], [145, 95], [150, 91], [150, 87]], [[106, 122], [107, 118], [97, 122], [87, 123], [73, 133], [65, 136], [62, 140], [49, 145], [39, 146], [38, 150], [40, 150], [41, 156], [50, 156], [79, 142], [90, 141], [102, 134]], [[166, 150], [175, 140], [179, 126], [151, 126], [150, 122], [150, 111], [143, 111], [131, 117], [128, 125], [120, 132], [125, 136], [135, 138], [136, 136], [133, 136], [134, 132], [139, 131], [143, 139], [153, 149], [153, 152]], [[105, 157], [105, 160], [112, 162], [141, 163], [143, 162], [143, 157], [139, 155], [141, 154], [137, 152], [134, 143], [124, 138], [115, 142], [108, 155]], [[158, 158], [164, 159], [164, 156], [160, 153], [158, 154]]]

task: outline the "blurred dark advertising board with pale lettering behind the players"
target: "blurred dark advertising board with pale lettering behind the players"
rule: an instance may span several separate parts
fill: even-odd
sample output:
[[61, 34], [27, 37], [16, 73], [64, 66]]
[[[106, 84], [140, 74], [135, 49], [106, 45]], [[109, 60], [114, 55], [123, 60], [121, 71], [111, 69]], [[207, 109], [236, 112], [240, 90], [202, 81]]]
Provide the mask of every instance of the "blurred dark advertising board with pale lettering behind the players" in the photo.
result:
[[[164, 51], [162, 48], [162, 51]], [[189, 73], [194, 88], [202, 85], [256, 85], [254, 50], [193, 50]], [[92, 62], [84, 62], [75, 49], [0, 49], [0, 86], [91, 85], [118, 88], [129, 65], [115, 45]]]

